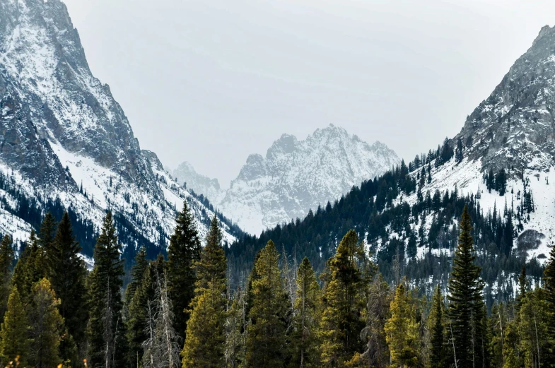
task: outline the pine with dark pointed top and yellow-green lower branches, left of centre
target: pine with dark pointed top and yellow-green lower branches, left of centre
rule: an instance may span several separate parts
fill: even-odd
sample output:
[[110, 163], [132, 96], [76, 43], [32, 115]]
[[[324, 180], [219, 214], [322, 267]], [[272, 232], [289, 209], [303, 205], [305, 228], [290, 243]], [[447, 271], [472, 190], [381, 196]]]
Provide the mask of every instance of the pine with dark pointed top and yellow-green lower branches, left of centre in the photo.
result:
[[206, 236], [206, 247], [201, 251], [200, 260], [194, 263], [196, 295], [191, 302], [185, 346], [181, 352], [184, 368], [217, 368], [226, 362], [227, 264], [221, 239], [218, 218], [214, 215]]

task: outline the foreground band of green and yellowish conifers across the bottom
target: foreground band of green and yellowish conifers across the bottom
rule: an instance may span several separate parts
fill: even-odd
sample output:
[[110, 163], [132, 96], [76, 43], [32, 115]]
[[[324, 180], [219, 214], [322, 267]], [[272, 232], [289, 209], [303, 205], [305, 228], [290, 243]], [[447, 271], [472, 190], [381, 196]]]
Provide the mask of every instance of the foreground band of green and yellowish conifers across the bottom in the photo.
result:
[[[21, 367], [555, 366], [555, 248], [542, 283], [486, 311], [470, 211], [463, 209], [447, 292], [387, 283], [354, 230], [322, 273], [274, 242], [230, 287], [218, 218], [201, 247], [187, 203], [168, 257], [139, 249], [132, 280], [107, 213], [87, 271], [67, 214], [42, 221], [15, 267], [0, 245], [0, 360]], [[62, 364], [62, 365], [59, 365]]]

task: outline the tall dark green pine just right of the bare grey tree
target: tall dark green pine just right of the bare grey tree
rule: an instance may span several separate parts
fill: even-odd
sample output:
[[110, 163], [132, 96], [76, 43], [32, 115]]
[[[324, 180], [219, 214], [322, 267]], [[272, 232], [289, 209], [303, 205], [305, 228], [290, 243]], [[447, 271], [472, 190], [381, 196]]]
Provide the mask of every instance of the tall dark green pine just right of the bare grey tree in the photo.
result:
[[185, 309], [189, 308], [194, 297], [196, 277], [193, 265], [199, 259], [201, 251], [195, 221], [187, 208], [187, 201], [183, 202], [183, 210], [177, 215], [176, 222], [168, 247], [168, 287], [173, 301], [175, 331], [185, 340], [188, 319]]

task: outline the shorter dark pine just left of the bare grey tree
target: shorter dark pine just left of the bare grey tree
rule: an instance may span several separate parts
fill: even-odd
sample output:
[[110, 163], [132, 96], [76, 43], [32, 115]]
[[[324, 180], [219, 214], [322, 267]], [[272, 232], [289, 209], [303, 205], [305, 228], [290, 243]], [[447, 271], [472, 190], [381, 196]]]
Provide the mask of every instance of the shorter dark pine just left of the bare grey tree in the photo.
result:
[[126, 338], [127, 338], [127, 364], [129, 367], [137, 367], [139, 358], [143, 357], [142, 343], [146, 340], [146, 283], [151, 283], [151, 275], [148, 271], [146, 260], [146, 249], [141, 247], [136, 254], [135, 264], [132, 268], [132, 280], [125, 290], [125, 315], [126, 315]]

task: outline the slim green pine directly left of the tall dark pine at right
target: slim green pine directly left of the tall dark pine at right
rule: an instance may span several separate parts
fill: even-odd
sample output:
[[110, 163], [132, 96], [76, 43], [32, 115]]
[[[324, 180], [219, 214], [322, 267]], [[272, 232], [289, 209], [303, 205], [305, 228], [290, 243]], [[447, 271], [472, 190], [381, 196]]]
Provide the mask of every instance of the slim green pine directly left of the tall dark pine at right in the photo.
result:
[[431, 349], [430, 367], [442, 368], [448, 365], [448, 345], [445, 341], [445, 321], [443, 312], [445, 305], [438, 285], [433, 294], [433, 307], [431, 312]]

